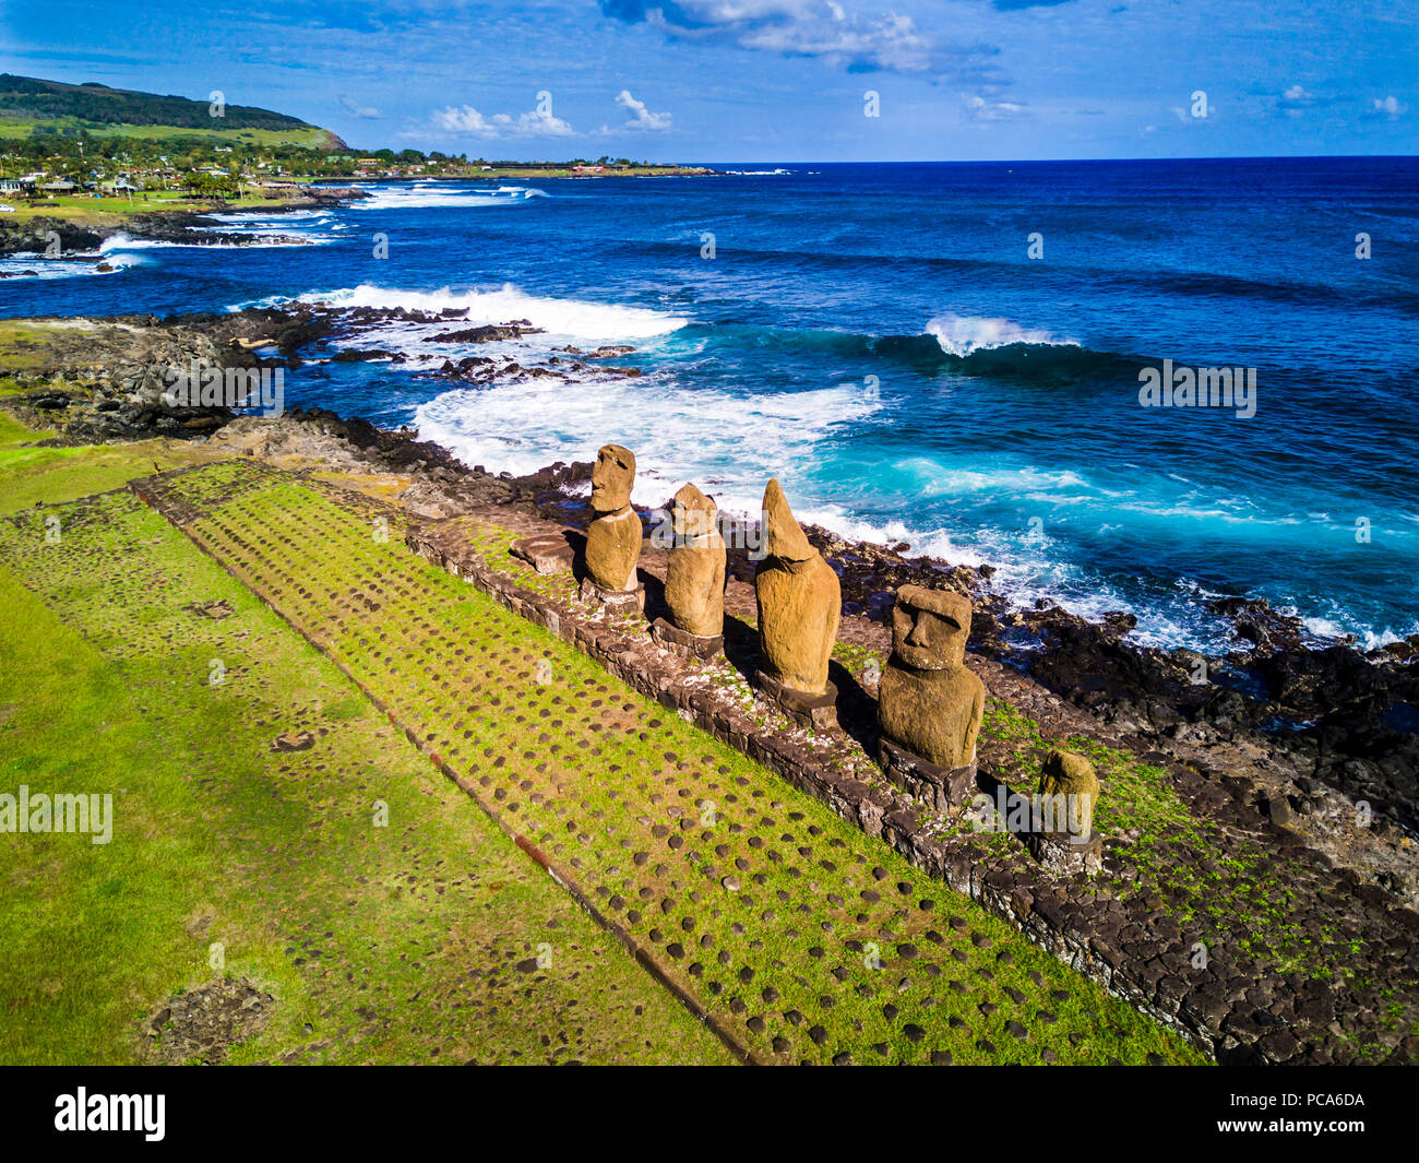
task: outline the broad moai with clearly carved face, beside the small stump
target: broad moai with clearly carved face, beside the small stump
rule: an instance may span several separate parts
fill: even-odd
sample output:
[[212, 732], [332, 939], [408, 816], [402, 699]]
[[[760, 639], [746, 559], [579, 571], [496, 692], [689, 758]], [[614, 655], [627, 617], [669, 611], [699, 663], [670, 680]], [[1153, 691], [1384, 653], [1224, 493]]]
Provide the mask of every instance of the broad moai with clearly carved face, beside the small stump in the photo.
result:
[[966, 669], [969, 635], [969, 598], [921, 585], [897, 591], [893, 655], [877, 686], [880, 757], [894, 782], [941, 811], [975, 790], [985, 686]]

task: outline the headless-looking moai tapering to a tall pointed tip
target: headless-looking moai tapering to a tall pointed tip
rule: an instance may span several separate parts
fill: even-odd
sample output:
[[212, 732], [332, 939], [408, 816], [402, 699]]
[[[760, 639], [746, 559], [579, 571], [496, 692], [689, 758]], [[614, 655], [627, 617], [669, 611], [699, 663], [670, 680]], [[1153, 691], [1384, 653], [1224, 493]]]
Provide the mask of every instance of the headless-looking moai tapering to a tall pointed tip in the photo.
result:
[[837, 689], [827, 662], [843, 613], [841, 586], [776, 480], [763, 490], [763, 559], [753, 575], [759, 605], [758, 686], [800, 726], [834, 727]]

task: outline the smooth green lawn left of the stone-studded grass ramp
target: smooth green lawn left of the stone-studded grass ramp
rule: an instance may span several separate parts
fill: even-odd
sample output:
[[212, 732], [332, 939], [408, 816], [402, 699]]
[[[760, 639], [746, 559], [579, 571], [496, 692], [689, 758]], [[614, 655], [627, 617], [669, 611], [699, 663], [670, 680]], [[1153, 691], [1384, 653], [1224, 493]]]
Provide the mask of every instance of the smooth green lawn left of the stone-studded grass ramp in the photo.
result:
[[[728, 1061], [132, 496], [0, 521], [0, 791], [111, 794], [115, 815], [106, 845], [0, 836], [0, 1061], [160, 1055], [143, 1020], [223, 976], [275, 998], [233, 1062]], [[304, 731], [308, 750], [274, 750]]]

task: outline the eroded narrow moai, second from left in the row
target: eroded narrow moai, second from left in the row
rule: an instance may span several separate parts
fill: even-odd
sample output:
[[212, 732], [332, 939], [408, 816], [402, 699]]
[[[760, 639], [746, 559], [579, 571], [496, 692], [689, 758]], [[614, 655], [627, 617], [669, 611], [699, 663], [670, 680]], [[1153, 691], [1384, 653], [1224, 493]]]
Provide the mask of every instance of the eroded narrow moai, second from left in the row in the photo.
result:
[[687, 484], [670, 504], [674, 542], [666, 565], [670, 619], [657, 618], [651, 636], [698, 657], [724, 649], [725, 548], [715, 503]]

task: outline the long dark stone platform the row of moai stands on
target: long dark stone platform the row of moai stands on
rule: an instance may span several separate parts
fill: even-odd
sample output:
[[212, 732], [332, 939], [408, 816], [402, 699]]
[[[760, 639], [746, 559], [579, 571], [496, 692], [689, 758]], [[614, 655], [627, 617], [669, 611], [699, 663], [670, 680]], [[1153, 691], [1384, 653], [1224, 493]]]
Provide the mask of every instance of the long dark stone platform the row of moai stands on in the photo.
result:
[[[570, 578], [559, 586], [565, 596], [529, 589], [528, 585], [536, 582], [521, 561], [505, 554], [495, 559], [470, 544], [480, 521], [495, 525], [505, 520], [509, 520], [505, 514], [490, 511], [412, 523], [406, 541], [416, 552], [491, 594], [508, 609], [548, 626], [685, 721], [779, 772], [790, 785], [817, 797], [866, 834], [880, 836], [911, 863], [1010, 920], [1033, 941], [1117, 997], [1186, 1034], [1219, 1059], [1338, 1062], [1359, 1058], [1357, 1048], [1335, 1035], [1331, 1024], [1338, 1021], [1342, 1031], [1359, 1030], [1365, 1007], [1371, 1005], [1364, 991], [1303, 974], [1279, 977], [1233, 937], [1223, 937], [1222, 947], [1209, 946], [1212, 957], [1206, 971], [1192, 968], [1189, 950], [1195, 937], [1191, 927], [1185, 929], [1165, 903], [1159, 903], [1162, 897], [1155, 890], [1139, 890], [1131, 873], [1137, 858], [1124, 841], [1100, 841], [1103, 868], [1114, 879], [1094, 878], [1084, 895], [1071, 883], [1070, 870], [1087, 870], [1095, 859], [1093, 838], [1083, 845], [1080, 858], [1056, 839], [1030, 839], [1027, 829], [1020, 829], [1010, 846], [989, 842], [993, 838], [971, 828], [944, 829], [938, 811], [927, 808], [924, 799], [910, 795], [884, 774], [877, 763], [876, 737], [858, 740], [841, 730], [803, 731], [797, 721], [779, 713], [776, 703], [761, 700], [755, 704], [746, 699], [751, 687], [744, 683], [744, 673], [752, 670], [736, 675], [724, 659], [700, 662], [667, 652], [650, 636], [644, 621], [639, 626], [633, 618], [624, 619], [624, 625], [607, 623], [599, 612], [576, 602]], [[535, 518], [515, 520], [519, 533], [534, 533]], [[552, 531], [549, 525], [543, 528]], [[644, 559], [643, 567], [647, 567]], [[518, 571], [522, 579], [515, 577]], [[654, 574], [654, 554], [646, 574]], [[752, 605], [739, 616], [752, 616]], [[844, 625], [849, 621], [844, 618]], [[1015, 692], [1012, 683], [1020, 684], [1002, 669], [992, 676], [990, 689]], [[765, 707], [771, 711], [768, 719]], [[1084, 724], [1083, 717], [1076, 730], [1101, 737], [1100, 728]], [[1107, 738], [1107, 733], [1103, 737]], [[870, 753], [864, 750], [868, 746]], [[1120, 744], [1111, 740], [1111, 746]], [[1270, 829], [1259, 814], [1233, 801], [1198, 771], [1164, 757], [1149, 755], [1148, 760], [1164, 768], [1161, 788], [1175, 795], [1188, 814], [1191, 824], [1185, 826], [1206, 829], [1213, 845], [1209, 849], [1169, 846], [1165, 858], [1178, 863], [1182, 873], [1200, 875], [1218, 868], [1216, 861], [1222, 856], [1246, 853], [1259, 875], [1274, 878], [1284, 870], [1294, 924], [1311, 934], [1313, 941], [1321, 940], [1325, 926], [1340, 926], [1362, 940], [1365, 950], [1374, 951], [1359, 954], [1359, 960], [1375, 964], [1376, 970], [1375, 959], [1385, 950], [1415, 944], [1419, 916], [1395, 897], [1375, 886], [1358, 885], [1348, 869], [1332, 869], [1323, 853]], [[921, 777], [920, 767], [917, 774]], [[1002, 785], [1010, 782], [1009, 771], [982, 760], [981, 778], [988, 777]], [[949, 787], [951, 780], [944, 784]], [[1105, 797], [1108, 792], [1105, 775]], [[1252, 855], [1261, 845], [1266, 845], [1263, 853]], [[1032, 846], [1033, 851], [1027, 851]], [[1210, 885], [1215, 893], [1237, 895], [1227, 879], [1213, 879]], [[1254, 930], [1249, 932], [1254, 936]], [[1256, 1000], [1259, 983], [1267, 994], [1261, 1008], [1281, 1025], [1253, 1018], [1260, 1004]], [[1388, 1032], [1384, 1054], [1409, 1052], [1395, 1051], [1399, 1041], [1419, 1047], [1419, 1038], [1405, 1039], [1403, 1032]]]

